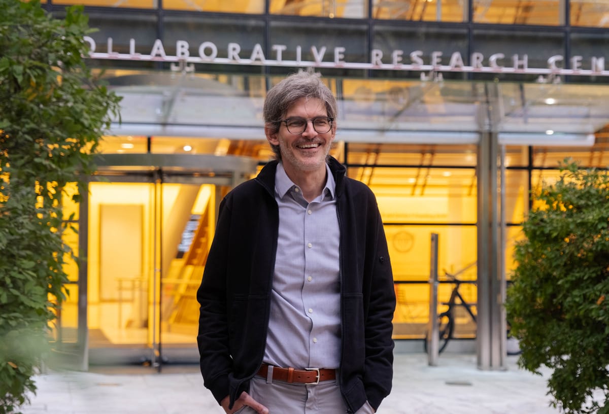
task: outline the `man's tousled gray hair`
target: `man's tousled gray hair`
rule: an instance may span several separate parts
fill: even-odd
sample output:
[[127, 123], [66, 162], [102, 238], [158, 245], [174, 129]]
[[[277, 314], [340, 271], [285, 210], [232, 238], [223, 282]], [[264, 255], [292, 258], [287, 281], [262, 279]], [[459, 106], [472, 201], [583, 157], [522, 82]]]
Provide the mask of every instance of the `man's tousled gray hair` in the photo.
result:
[[[336, 98], [332, 91], [320, 79], [321, 74], [312, 71], [300, 71], [283, 79], [280, 83], [270, 88], [264, 99], [262, 116], [266, 127], [271, 133], [277, 133], [281, 127], [281, 119], [287, 110], [301, 98], [314, 98], [322, 100], [326, 105], [326, 111], [330, 118], [336, 119], [338, 108]], [[281, 161], [279, 146], [270, 144], [275, 158]]]

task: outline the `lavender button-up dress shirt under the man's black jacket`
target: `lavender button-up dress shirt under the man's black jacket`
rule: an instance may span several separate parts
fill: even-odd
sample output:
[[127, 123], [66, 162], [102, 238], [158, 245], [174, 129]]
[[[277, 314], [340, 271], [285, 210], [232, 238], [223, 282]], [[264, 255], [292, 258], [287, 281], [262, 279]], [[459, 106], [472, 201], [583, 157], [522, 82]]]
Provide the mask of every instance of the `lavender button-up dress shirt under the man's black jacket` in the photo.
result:
[[311, 203], [280, 163], [275, 176], [279, 237], [264, 362], [277, 367], [338, 368], [339, 223], [334, 177]]

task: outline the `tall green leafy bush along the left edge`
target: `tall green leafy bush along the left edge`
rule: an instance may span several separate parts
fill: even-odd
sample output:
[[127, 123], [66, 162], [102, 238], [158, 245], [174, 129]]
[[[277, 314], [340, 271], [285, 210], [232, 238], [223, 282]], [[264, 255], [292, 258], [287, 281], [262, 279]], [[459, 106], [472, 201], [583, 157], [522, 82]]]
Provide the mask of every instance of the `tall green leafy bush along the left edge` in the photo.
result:
[[82, 7], [53, 19], [38, 0], [0, 0], [0, 413], [35, 391], [32, 375], [65, 298], [71, 251], [66, 183], [93, 172], [119, 98], [96, 83], [83, 55]]

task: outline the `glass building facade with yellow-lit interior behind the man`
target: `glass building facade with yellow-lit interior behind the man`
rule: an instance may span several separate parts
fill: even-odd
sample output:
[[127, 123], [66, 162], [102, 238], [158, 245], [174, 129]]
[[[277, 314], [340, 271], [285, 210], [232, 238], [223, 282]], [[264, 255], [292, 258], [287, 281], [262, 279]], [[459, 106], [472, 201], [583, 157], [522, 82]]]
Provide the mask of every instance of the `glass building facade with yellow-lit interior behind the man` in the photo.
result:
[[[607, 167], [609, 2], [596, 0], [52, 0], [85, 5], [90, 65], [123, 97], [68, 240], [57, 348], [88, 363], [192, 362], [217, 205], [272, 156], [266, 91], [314, 68], [339, 100], [332, 154], [375, 192], [397, 348], [423, 351], [431, 234], [449, 349], [501, 368], [501, 303], [529, 195], [567, 157]], [[609, 56], [607, 56], [609, 57]], [[68, 236], [66, 236], [68, 237]], [[477, 346], [476, 346], [477, 344]]]

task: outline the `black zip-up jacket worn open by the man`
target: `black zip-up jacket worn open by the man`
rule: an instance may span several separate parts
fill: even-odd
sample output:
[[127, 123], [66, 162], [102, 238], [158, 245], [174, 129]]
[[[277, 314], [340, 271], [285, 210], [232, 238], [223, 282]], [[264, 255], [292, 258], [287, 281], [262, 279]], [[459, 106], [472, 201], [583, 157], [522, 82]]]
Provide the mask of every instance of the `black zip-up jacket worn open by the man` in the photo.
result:
[[[338, 381], [348, 412], [378, 409], [393, 379], [393, 275], [376, 198], [329, 157], [340, 228], [342, 354]], [[220, 203], [216, 235], [197, 292], [205, 387], [230, 406], [258, 371], [269, 328], [279, 210], [272, 161]], [[304, 368], [304, 367], [296, 367]]]

